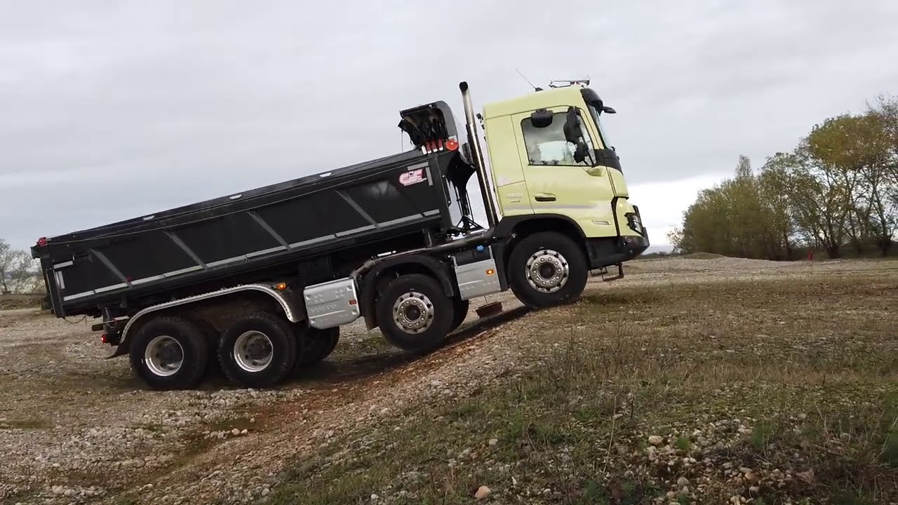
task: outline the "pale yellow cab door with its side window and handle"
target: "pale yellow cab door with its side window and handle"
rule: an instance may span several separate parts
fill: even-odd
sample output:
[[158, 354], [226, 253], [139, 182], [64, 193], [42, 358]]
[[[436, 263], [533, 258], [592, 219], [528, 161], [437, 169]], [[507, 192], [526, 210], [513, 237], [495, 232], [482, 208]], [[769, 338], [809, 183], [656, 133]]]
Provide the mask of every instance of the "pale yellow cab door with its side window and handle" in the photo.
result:
[[577, 162], [576, 146], [564, 134], [568, 107], [552, 107], [548, 111], [552, 112], [552, 120], [544, 128], [533, 125], [532, 111], [512, 117], [533, 213], [570, 217], [587, 237], [617, 235], [611, 207], [611, 177], [606, 167], [592, 166], [594, 147], [600, 145], [586, 120], [589, 116], [577, 109], [588, 148], [585, 159]]

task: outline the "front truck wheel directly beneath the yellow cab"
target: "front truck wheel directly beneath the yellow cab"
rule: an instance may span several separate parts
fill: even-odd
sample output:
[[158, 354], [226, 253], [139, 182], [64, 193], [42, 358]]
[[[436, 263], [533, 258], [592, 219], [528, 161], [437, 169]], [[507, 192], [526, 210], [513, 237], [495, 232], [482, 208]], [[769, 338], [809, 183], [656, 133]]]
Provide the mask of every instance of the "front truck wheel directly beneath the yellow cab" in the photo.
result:
[[[546, 266], [540, 268], [539, 264]], [[524, 237], [512, 250], [507, 266], [508, 284], [515, 297], [525, 306], [537, 309], [579, 297], [589, 275], [583, 250], [567, 235], [555, 232]]]

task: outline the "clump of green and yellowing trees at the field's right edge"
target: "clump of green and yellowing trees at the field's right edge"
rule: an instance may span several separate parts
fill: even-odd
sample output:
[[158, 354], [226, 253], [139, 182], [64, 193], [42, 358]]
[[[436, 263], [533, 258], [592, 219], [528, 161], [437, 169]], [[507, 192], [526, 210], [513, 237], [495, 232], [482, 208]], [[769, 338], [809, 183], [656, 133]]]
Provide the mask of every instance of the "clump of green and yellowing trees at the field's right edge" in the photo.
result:
[[814, 125], [760, 173], [739, 157], [735, 176], [698, 194], [669, 235], [683, 253], [791, 259], [796, 249], [845, 247], [886, 255], [898, 231], [898, 99]]

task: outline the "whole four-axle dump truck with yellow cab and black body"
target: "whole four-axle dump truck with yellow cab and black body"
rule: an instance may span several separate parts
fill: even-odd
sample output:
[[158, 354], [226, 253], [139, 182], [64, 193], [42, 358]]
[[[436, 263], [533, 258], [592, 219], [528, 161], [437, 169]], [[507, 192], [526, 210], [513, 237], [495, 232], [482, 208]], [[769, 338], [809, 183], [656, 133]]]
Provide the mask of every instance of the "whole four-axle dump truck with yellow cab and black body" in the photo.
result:
[[150, 388], [196, 387], [213, 366], [269, 387], [359, 318], [427, 351], [472, 299], [510, 289], [540, 310], [577, 299], [591, 272], [623, 277], [649, 240], [603, 125], [616, 111], [588, 81], [480, 113], [459, 89], [466, 139], [446, 102], [418, 105], [400, 111], [399, 154], [40, 238], [45, 303], [98, 319], [109, 358]]

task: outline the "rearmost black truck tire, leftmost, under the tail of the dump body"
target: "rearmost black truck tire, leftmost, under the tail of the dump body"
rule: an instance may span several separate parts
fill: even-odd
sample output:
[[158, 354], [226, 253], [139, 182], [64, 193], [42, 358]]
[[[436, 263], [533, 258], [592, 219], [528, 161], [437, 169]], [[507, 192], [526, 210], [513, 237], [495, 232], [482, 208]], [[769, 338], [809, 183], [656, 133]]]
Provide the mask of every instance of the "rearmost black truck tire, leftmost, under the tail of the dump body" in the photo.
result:
[[[193, 389], [206, 375], [203, 329], [183, 317], [158, 316], [140, 328], [129, 350], [131, 368], [153, 389]], [[180, 360], [180, 365], [173, 361]]]

